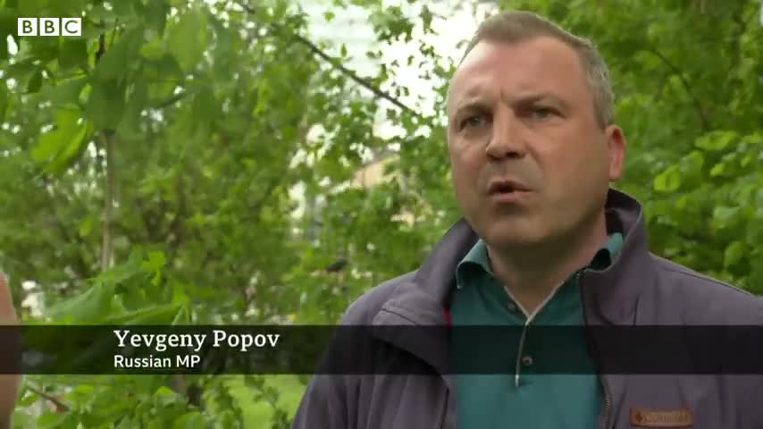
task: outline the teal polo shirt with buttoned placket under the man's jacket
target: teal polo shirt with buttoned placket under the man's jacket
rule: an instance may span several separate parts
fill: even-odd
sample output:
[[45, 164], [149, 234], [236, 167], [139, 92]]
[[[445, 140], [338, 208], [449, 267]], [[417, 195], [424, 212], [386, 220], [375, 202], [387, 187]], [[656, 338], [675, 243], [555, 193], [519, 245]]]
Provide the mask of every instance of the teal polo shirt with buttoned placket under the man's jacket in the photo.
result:
[[[616, 258], [623, 236], [615, 232], [599, 249], [587, 268], [603, 270]], [[457, 290], [450, 308], [451, 323], [457, 325], [516, 326], [517, 332], [530, 332], [521, 338], [497, 338], [512, 341], [508, 365], [519, 368], [514, 374], [457, 374], [457, 428], [579, 428], [596, 427], [601, 404], [599, 379], [590, 374], [532, 374], [536, 362], [559, 358], [582, 358], [591, 368], [583, 337], [564, 341], [564, 349], [532, 335], [533, 325], [582, 326], [583, 305], [577, 284], [577, 272], [558, 287], [550, 299], [527, 315], [512, 299], [490, 269], [487, 246], [478, 240], [456, 270]], [[453, 342], [458, 354], [458, 341]], [[461, 350], [466, 354], [471, 350]]]

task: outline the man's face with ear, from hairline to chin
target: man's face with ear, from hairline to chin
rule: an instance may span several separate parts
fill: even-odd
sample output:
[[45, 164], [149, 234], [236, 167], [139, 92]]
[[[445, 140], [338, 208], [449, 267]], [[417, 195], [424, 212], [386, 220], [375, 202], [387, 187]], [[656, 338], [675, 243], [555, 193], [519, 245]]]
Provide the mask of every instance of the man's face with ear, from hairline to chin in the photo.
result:
[[451, 82], [452, 181], [494, 247], [553, 242], [601, 214], [625, 139], [602, 130], [574, 50], [553, 38], [481, 42]]

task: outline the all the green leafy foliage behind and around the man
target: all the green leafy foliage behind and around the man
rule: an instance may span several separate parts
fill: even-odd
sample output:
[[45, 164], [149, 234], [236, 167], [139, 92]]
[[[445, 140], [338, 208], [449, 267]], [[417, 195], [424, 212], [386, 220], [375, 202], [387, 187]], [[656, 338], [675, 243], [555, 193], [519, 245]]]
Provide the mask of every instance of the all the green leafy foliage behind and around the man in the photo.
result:
[[[431, 4], [407, 3], [337, 0], [324, 16], [364, 7], [377, 59], [434, 31]], [[645, 202], [653, 250], [763, 294], [759, 5], [502, 6], [598, 42], [630, 142], [619, 186]], [[401, 101], [400, 64], [361, 77], [346, 48], [326, 54], [291, 2], [0, 7], [0, 37], [17, 46], [0, 49], [0, 265], [20, 306], [43, 299], [25, 323], [331, 323], [414, 269], [457, 219], [443, 130], [454, 64], [426, 43], [408, 63], [432, 82], [433, 109]], [[20, 38], [22, 16], [82, 16], [83, 35]], [[374, 132], [380, 110], [397, 136]], [[348, 186], [369, 153], [391, 154], [389, 180]], [[115, 265], [99, 257], [105, 231]], [[338, 259], [347, 266], [326, 270]], [[15, 425], [282, 428], [300, 389], [282, 377], [29, 376]]]

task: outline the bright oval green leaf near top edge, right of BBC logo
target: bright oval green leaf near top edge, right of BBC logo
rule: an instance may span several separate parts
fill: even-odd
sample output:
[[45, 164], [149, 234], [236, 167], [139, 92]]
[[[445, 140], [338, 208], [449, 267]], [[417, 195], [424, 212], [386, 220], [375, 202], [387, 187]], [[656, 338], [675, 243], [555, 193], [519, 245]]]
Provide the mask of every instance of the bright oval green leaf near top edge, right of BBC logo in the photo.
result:
[[183, 71], [191, 71], [204, 58], [208, 43], [206, 16], [197, 9], [189, 9], [180, 15], [179, 21], [167, 31], [167, 45]]

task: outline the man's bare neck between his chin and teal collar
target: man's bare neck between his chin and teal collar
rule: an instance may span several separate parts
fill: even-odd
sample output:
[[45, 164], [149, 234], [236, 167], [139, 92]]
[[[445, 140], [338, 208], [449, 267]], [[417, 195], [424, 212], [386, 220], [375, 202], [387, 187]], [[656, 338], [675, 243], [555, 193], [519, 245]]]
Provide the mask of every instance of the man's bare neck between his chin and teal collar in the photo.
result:
[[490, 265], [529, 314], [570, 274], [588, 265], [607, 240], [604, 212], [558, 240], [523, 248], [493, 248], [488, 245]]

